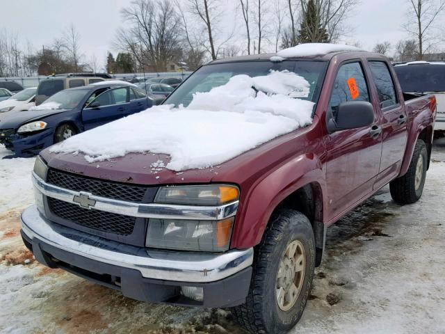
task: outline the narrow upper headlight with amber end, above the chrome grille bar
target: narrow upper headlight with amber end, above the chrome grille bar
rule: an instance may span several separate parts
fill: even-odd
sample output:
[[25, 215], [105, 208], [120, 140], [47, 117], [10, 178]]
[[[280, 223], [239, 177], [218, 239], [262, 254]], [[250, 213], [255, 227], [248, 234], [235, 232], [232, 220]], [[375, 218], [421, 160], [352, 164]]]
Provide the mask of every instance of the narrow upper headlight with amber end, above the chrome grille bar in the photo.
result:
[[164, 186], [156, 193], [154, 202], [183, 205], [222, 205], [238, 200], [236, 186], [206, 184], [202, 186]]

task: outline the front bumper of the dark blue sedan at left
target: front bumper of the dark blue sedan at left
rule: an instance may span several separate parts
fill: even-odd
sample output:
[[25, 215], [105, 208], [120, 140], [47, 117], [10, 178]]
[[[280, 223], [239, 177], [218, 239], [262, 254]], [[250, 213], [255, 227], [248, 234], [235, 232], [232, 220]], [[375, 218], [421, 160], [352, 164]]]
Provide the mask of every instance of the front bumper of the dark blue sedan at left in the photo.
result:
[[29, 136], [8, 134], [0, 137], [0, 143], [13, 150], [16, 157], [31, 157], [54, 143], [54, 129], [44, 129]]

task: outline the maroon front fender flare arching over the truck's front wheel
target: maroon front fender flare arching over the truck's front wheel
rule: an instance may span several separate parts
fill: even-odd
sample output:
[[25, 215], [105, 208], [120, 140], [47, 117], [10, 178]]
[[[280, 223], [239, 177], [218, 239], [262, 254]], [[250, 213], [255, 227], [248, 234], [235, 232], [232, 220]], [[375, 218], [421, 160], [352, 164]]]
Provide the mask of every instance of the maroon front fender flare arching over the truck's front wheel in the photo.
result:
[[296, 209], [309, 218], [316, 247], [322, 254], [325, 189], [324, 171], [318, 157], [303, 154], [288, 161], [259, 181], [246, 195], [248, 202], [241, 207], [241, 215], [237, 216], [232, 246], [245, 248], [259, 244], [273, 214], [278, 209], [288, 208]]

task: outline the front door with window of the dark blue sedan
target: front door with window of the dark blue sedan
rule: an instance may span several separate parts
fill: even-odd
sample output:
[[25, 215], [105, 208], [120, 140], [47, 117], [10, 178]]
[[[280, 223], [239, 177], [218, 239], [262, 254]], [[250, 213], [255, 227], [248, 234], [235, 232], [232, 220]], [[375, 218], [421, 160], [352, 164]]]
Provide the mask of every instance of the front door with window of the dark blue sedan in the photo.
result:
[[130, 113], [129, 88], [109, 89], [95, 97], [82, 110], [83, 127], [86, 130], [92, 129]]

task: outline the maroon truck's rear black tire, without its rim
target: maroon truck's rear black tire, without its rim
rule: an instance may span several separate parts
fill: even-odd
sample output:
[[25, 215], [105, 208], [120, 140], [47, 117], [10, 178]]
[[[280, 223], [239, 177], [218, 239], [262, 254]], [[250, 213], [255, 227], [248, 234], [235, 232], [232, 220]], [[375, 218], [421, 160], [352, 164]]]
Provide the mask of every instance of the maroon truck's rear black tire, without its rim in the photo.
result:
[[[419, 159], [422, 159], [422, 175], [421, 181], [416, 186], [416, 171]], [[426, 168], [428, 166], [428, 150], [425, 143], [419, 139], [416, 141], [414, 152], [412, 154], [410, 167], [408, 171], [402, 177], [398, 177], [395, 180], [389, 182], [389, 190], [391, 191], [391, 197], [401, 204], [412, 204], [421, 198], [423, 193], [423, 186], [425, 186]]]

